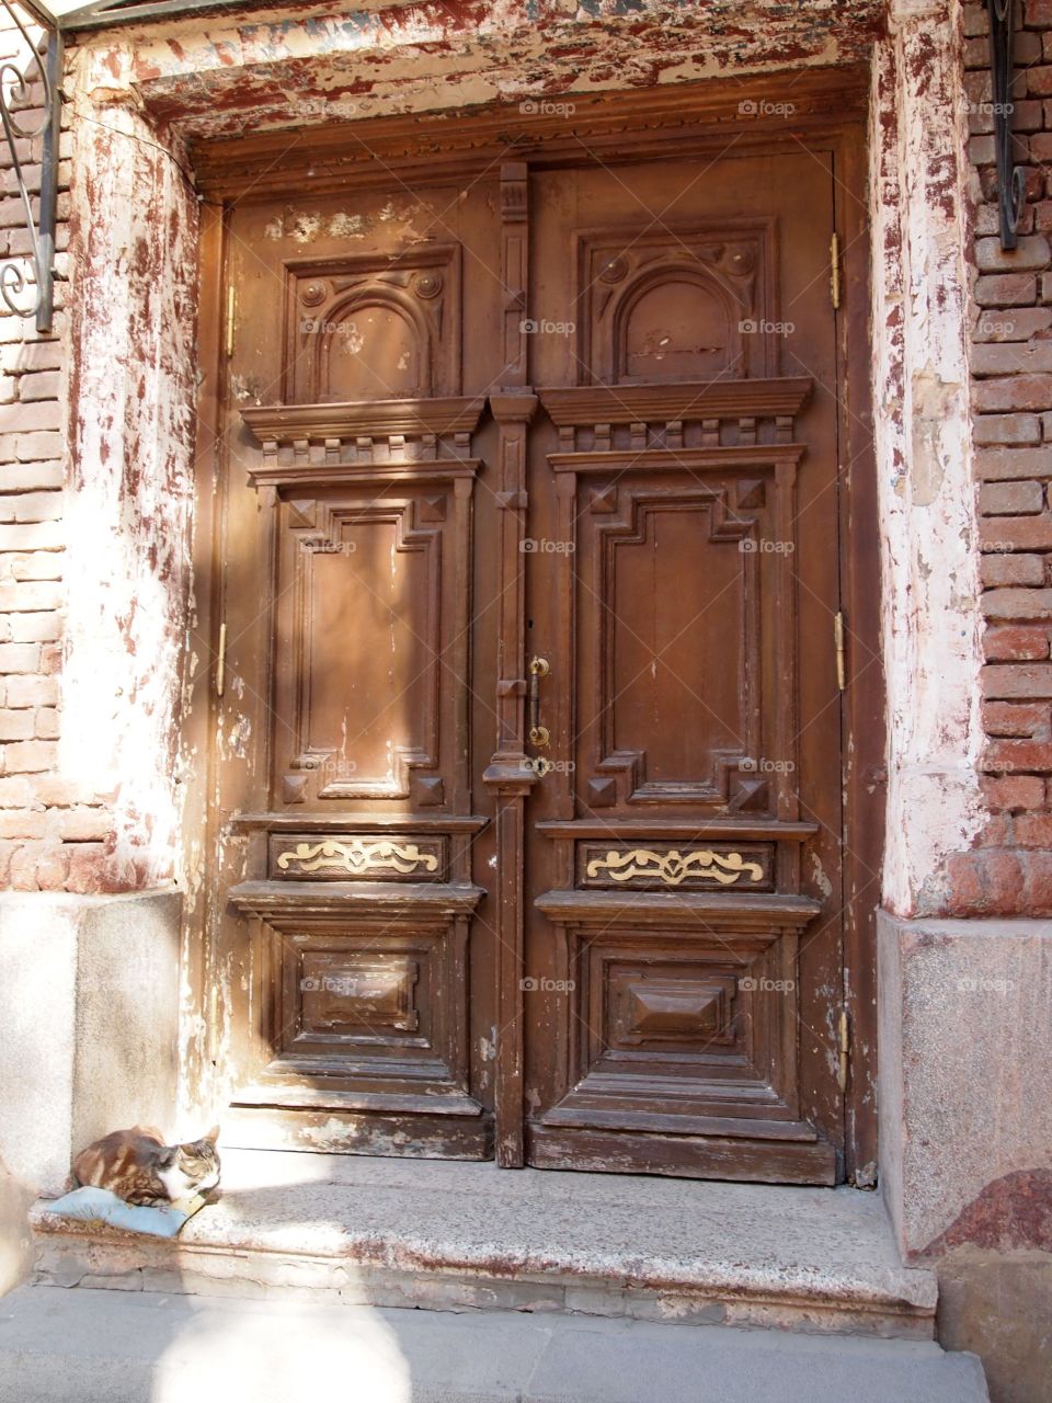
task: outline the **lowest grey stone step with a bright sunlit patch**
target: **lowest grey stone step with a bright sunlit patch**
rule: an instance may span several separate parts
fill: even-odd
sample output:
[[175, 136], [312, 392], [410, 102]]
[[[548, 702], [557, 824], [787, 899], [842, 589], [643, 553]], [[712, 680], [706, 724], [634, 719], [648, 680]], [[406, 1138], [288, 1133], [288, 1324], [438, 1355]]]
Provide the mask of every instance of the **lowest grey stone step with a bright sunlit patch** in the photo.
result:
[[0, 1403], [989, 1403], [972, 1354], [501, 1312], [24, 1287]]

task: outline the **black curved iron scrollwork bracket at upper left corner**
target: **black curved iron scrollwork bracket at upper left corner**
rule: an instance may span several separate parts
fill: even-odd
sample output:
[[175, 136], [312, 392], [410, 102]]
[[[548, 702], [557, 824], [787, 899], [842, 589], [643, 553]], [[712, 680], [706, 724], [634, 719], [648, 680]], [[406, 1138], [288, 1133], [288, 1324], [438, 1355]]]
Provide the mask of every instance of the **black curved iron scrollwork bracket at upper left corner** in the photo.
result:
[[[0, 267], [0, 296], [15, 316], [36, 317], [36, 330], [50, 331], [53, 309], [55, 268], [55, 205], [58, 195], [58, 156], [60, 130], [59, 91], [62, 39], [56, 31], [48, 34], [48, 48], [42, 53], [34, 43], [18, 10], [10, 0], [0, 0], [6, 15], [15, 25], [25, 43], [25, 69], [14, 59], [0, 63], [0, 121], [11, 159], [18, 196], [29, 236], [29, 254], [24, 260], [10, 260]], [[39, 80], [43, 91], [43, 116], [35, 125], [25, 125], [31, 88]], [[32, 196], [25, 184], [20, 142], [42, 139], [39, 224], [34, 216]], [[28, 262], [28, 271], [25, 264]]]

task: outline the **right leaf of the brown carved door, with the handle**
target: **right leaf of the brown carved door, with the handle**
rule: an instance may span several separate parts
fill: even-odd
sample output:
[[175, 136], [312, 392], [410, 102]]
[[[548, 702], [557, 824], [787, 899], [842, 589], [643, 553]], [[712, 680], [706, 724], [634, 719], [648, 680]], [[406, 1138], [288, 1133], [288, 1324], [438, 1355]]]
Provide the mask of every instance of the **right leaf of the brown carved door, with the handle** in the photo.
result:
[[837, 1174], [832, 195], [802, 149], [532, 182], [534, 1164]]

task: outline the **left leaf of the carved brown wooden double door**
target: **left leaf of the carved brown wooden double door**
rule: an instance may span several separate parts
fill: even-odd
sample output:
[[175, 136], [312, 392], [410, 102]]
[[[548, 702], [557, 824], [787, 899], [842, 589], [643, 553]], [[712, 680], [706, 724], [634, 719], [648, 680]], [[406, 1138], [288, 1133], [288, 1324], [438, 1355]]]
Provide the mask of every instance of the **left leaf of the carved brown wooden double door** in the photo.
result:
[[396, 188], [231, 217], [227, 1142], [491, 1153], [474, 874], [492, 839], [471, 772], [480, 725], [492, 749], [492, 630], [473, 624], [476, 589], [497, 593], [478, 487], [501, 331], [478, 276], [499, 262], [491, 194]]

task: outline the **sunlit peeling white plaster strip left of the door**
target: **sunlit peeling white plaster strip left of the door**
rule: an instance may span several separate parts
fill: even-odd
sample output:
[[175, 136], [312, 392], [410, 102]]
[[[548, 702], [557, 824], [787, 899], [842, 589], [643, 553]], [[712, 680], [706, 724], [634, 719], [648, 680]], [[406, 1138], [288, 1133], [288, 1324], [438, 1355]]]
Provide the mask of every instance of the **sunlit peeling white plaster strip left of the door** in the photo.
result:
[[112, 796], [97, 890], [173, 880], [189, 603], [198, 208], [128, 107], [73, 86], [60, 772]]

